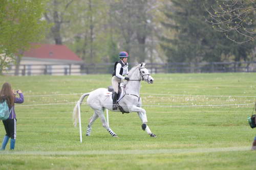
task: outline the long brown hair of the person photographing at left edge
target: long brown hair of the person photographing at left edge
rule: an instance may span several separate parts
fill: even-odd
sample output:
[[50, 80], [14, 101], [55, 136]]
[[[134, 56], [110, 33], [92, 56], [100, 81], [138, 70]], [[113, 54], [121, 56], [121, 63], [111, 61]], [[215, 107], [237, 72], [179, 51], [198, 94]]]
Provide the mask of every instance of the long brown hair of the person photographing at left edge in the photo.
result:
[[7, 104], [10, 107], [14, 105], [14, 94], [12, 92], [12, 87], [10, 83], [4, 83], [0, 91], [0, 102], [7, 101]]

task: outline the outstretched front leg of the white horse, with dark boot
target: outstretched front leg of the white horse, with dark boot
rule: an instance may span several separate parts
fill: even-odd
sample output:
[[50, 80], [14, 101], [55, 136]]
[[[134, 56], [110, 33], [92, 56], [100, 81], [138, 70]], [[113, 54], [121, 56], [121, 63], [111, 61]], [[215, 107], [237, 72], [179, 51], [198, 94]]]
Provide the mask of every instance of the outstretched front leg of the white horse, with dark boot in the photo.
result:
[[140, 117], [141, 119], [141, 122], [142, 122], [142, 130], [143, 131], [146, 131], [146, 133], [148, 135], [150, 135], [151, 137], [157, 137], [154, 133], [151, 132], [150, 128], [148, 127], [147, 125], [147, 117], [146, 117], [146, 111], [145, 109], [142, 109], [140, 107], [137, 107], [137, 106], [133, 106], [131, 108], [131, 111], [134, 111], [134, 112], [137, 112], [138, 113], [138, 116]]

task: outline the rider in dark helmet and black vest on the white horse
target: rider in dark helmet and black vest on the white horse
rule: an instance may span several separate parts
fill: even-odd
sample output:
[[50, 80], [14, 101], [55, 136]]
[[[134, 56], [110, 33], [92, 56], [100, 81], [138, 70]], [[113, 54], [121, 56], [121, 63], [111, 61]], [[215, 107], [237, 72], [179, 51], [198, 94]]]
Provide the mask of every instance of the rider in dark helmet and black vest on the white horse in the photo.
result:
[[118, 95], [118, 84], [121, 83], [123, 80], [129, 81], [128, 77], [124, 77], [125, 75], [129, 74], [128, 70], [128, 59], [129, 55], [126, 52], [120, 52], [119, 58], [120, 61], [117, 61], [114, 66], [114, 73], [112, 74], [112, 86], [114, 88], [114, 96], [113, 96], [113, 110], [117, 109], [117, 95]]

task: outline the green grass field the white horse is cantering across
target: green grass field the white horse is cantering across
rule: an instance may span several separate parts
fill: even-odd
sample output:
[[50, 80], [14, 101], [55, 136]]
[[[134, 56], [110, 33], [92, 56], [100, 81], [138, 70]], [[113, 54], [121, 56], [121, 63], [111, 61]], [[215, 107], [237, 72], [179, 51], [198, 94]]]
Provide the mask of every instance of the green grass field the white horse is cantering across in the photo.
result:
[[[15, 105], [15, 151], [8, 143], [0, 152], [0, 169], [255, 169], [256, 151], [250, 148], [256, 133], [247, 123], [253, 105], [232, 105], [255, 102], [256, 74], [153, 77], [154, 84], [142, 82], [141, 97], [157, 138], [141, 130], [137, 113], [116, 112], [110, 112], [110, 127], [119, 138], [111, 137], [99, 119], [87, 137], [93, 112], [83, 104], [82, 143], [72, 124], [72, 102], [81, 95], [75, 93], [110, 85], [110, 75], [0, 77], [1, 86], [8, 81], [25, 95], [25, 103]], [[52, 105], [57, 103], [71, 104]], [[4, 135], [0, 123], [1, 141]]]

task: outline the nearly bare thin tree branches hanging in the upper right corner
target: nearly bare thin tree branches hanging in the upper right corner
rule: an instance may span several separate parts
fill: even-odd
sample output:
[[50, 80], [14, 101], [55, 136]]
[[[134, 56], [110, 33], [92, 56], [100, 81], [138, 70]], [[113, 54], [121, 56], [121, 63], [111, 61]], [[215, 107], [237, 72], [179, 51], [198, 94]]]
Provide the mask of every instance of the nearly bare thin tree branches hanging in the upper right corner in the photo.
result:
[[[256, 37], [255, 0], [219, 0], [218, 7], [210, 7], [207, 12], [211, 20], [206, 20], [212, 27], [224, 32], [225, 36], [236, 43], [245, 43]], [[233, 34], [237, 32], [237, 34]], [[237, 35], [242, 35], [243, 39], [238, 39]]]

